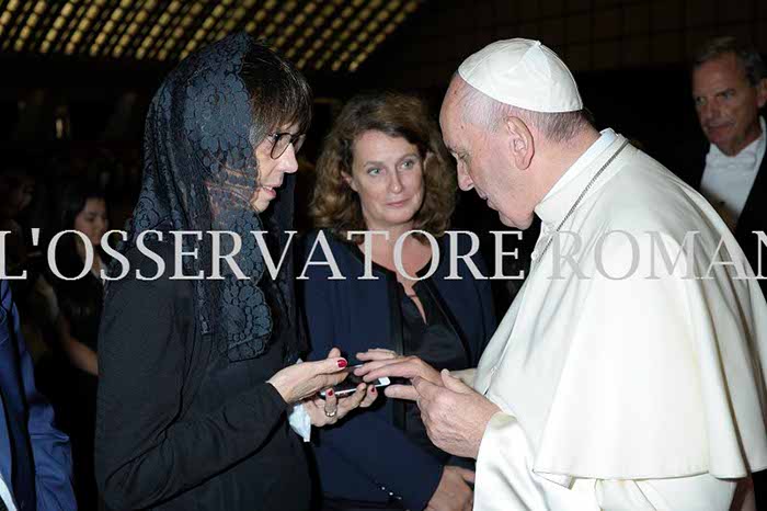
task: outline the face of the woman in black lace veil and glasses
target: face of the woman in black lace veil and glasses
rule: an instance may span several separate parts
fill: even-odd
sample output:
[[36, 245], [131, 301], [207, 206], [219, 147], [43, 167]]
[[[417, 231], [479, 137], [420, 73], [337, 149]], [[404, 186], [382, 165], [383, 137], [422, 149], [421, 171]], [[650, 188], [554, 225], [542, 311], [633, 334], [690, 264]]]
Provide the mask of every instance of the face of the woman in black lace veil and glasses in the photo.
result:
[[[278, 133], [296, 135], [298, 127], [294, 125], [283, 126]], [[259, 213], [266, 211], [274, 198], [277, 197], [277, 189], [283, 185], [285, 174], [291, 174], [298, 170], [296, 148], [288, 144], [278, 158], [272, 158], [272, 147], [275, 137], [268, 135], [255, 148], [255, 158], [259, 162], [259, 184], [250, 200], [250, 205]]]

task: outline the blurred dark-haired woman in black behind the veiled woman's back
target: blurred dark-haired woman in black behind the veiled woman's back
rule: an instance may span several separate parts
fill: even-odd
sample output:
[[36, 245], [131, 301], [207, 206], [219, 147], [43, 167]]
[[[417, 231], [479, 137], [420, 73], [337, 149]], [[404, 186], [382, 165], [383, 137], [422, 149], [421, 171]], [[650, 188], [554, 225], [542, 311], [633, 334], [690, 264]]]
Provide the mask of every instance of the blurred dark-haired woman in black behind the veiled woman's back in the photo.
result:
[[53, 272], [49, 276], [59, 310], [56, 360], [54, 373], [43, 377], [61, 428], [72, 441], [79, 507], [94, 510], [98, 503], [93, 474], [96, 353], [104, 294], [101, 270], [107, 263], [101, 239], [108, 228], [106, 200], [98, 188], [70, 182], [60, 197], [59, 212], [58, 231], [76, 230], [80, 235], [64, 235], [56, 246], [56, 268], [61, 277]]

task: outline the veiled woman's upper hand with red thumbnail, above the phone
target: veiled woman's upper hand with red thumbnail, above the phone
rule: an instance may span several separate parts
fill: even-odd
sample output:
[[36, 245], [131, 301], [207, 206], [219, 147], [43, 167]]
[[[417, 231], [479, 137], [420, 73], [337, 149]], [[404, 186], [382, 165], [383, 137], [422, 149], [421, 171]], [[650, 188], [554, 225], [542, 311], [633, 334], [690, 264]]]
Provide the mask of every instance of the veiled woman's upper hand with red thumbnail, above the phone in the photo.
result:
[[291, 405], [343, 382], [346, 378], [346, 372], [343, 371], [346, 365], [341, 351], [333, 348], [328, 353], [328, 359], [290, 365], [275, 373], [266, 383], [272, 384], [285, 402]]

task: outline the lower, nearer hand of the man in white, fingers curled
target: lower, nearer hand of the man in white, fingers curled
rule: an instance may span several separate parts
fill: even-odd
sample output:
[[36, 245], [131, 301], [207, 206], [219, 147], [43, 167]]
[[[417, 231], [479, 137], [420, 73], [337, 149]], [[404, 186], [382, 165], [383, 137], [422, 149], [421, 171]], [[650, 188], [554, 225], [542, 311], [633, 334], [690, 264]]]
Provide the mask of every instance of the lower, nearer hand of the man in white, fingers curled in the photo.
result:
[[449, 371], [443, 370], [440, 377], [442, 385], [420, 377], [413, 381], [428, 438], [446, 453], [476, 459], [484, 429], [490, 418], [501, 409], [460, 379], [450, 376]]

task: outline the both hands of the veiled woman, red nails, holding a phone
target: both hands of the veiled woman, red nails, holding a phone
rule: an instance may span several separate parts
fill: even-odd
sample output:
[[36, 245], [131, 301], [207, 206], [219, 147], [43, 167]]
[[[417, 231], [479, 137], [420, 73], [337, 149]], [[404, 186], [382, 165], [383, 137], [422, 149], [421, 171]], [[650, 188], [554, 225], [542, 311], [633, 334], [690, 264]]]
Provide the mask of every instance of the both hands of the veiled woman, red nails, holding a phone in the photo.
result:
[[[374, 386], [362, 383], [352, 395], [339, 398], [333, 394], [333, 386], [347, 376], [346, 364], [341, 351], [333, 348], [325, 360], [290, 365], [275, 373], [267, 383], [277, 389], [285, 402], [304, 405], [311, 425], [334, 424], [355, 408], [369, 407], [378, 397]], [[320, 390], [327, 390], [324, 399], [319, 396]]]

